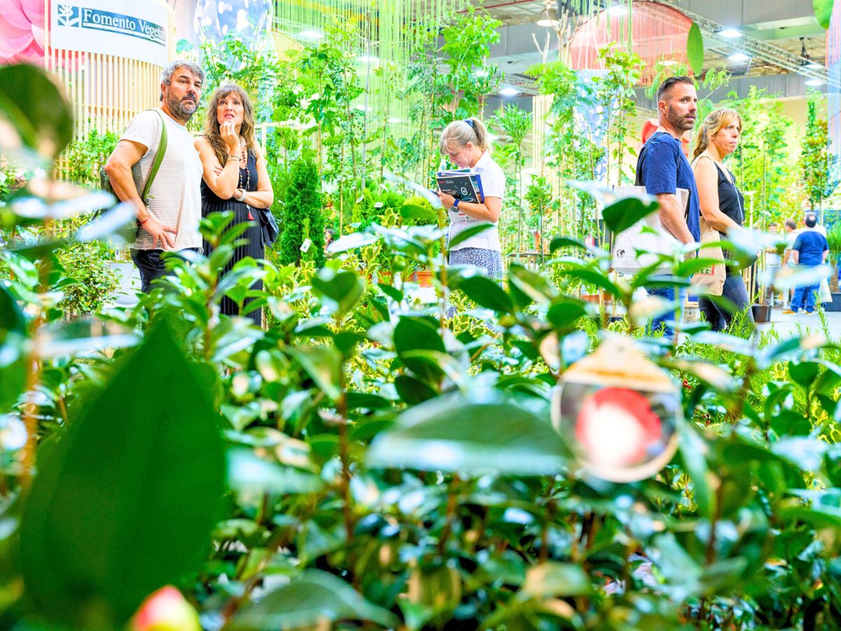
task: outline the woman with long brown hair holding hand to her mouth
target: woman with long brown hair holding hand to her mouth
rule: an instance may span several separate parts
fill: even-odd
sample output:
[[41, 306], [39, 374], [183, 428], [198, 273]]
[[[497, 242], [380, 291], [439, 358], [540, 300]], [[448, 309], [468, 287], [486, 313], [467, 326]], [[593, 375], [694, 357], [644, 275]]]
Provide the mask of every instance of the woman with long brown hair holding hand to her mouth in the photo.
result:
[[[242, 235], [248, 242], [236, 248], [223, 273], [245, 257], [262, 259], [264, 244], [255, 209], [269, 208], [274, 194], [266, 160], [254, 140], [254, 114], [245, 90], [234, 83], [225, 83], [214, 92], [204, 122], [204, 135], [196, 139], [195, 146], [204, 171], [202, 216], [230, 210], [234, 213], [230, 225], [251, 223]], [[209, 253], [207, 242], [204, 252]], [[262, 289], [262, 281], [252, 287]], [[244, 310], [250, 300], [246, 299]], [[239, 315], [238, 306], [228, 296], [222, 298], [220, 309], [224, 315]], [[262, 309], [246, 315], [262, 326]]]

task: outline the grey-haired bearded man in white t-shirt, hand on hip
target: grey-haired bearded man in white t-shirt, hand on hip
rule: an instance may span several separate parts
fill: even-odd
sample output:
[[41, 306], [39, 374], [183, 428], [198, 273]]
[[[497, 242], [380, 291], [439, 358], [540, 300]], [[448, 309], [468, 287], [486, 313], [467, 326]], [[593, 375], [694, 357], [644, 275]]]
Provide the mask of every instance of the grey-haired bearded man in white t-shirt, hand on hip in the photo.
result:
[[[114, 194], [137, 209], [131, 258], [146, 294], [152, 280], [167, 273], [162, 252], [202, 249], [198, 232], [202, 163], [187, 123], [198, 108], [203, 82], [204, 71], [192, 61], [172, 61], [161, 72], [160, 109], [137, 114], [105, 163]], [[163, 139], [163, 158], [145, 199], [140, 199]]]

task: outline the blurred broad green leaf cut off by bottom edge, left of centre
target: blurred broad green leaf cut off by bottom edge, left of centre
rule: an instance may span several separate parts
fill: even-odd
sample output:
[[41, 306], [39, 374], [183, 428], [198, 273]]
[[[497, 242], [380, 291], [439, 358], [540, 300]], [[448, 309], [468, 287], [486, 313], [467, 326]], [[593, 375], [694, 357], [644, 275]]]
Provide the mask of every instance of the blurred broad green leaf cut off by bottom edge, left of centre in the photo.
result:
[[394, 613], [372, 605], [340, 578], [307, 570], [237, 613], [228, 628], [231, 631], [317, 628], [325, 622], [340, 620], [367, 620], [386, 628], [398, 628], [400, 624]]

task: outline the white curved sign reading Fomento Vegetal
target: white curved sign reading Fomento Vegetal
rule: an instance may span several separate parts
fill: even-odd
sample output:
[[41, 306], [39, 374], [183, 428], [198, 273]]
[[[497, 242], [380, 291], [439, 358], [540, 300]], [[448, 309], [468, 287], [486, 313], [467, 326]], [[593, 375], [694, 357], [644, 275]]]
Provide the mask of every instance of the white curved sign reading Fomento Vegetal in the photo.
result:
[[53, 0], [50, 44], [147, 61], [169, 61], [169, 8], [152, 0]]

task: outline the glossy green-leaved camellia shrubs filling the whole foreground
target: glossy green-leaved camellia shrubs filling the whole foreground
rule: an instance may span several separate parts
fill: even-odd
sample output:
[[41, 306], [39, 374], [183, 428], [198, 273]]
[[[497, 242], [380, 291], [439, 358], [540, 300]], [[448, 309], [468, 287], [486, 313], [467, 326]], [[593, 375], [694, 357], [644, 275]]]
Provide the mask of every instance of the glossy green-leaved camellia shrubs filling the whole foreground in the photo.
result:
[[[0, 69], [0, 89], [33, 117], [61, 103], [34, 67]], [[37, 120], [40, 139], [69, 140], [62, 119]], [[602, 215], [620, 232], [655, 210], [621, 199]], [[4, 230], [24, 222], [3, 213]], [[74, 238], [129, 218], [118, 206]], [[606, 252], [563, 236], [557, 282], [444, 269], [437, 225], [372, 225], [323, 268], [246, 260], [220, 278], [230, 219], [203, 221], [211, 257], [169, 257], [139, 305], [88, 321], [59, 321], [50, 243], [0, 250], [4, 627], [118, 628], [158, 602], [214, 629], [841, 623], [841, 351], [826, 337], [704, 323], [679, 344], [647, 337], [674, 305], [632, 300], [646, 273], [612, 279]], [[743, 238], [737, 258], [764, 246]], [[373, 247], [429, 265], [437, 304], [368, 282], [353, 252]], [[686, 285], [708, 262], [664, 263]], [[257, 277], [267, 331], [219, 315]], [[581, 282], [627, 316], [575, 298]], [[558, 380], [611, 337], [674, 390], [674, 457], [643, 480], [588, 473], [551, 422]], [[643, 410], [623, 397], [593, 402]], [[598, 424], [584, 430], [593, 443]]]

